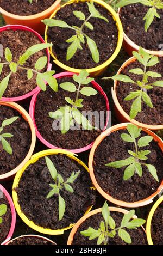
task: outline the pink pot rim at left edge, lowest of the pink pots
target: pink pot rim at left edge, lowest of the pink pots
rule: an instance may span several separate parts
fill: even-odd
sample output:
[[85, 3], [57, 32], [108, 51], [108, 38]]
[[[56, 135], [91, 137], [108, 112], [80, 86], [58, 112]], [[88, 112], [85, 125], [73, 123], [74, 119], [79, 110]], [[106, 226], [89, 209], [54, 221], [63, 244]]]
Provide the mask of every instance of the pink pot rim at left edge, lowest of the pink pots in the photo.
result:
[[10, 241], [10, 239], [12, 237], [12, 234], [14, 233], [15, 223], [16, 223], [16, 212], [15, 212], [14, 203], [12, 202], [12, 198], [10, 197], [7, 190], [5, 190], [5, 188], [1, 184], [0, 184], [0, 191], [2, 191], [5, 195], [5, 197], [8, 199], [8, 202], [10, 204], [10, 209], [11, 209], [11, 216], [12, 216], [12, 218], [11, 218], [11, 227], [10, 227], [9, 234], [6, 237], [6, 239], [1, 243], [1, 245], [4, 245], [8, 241]]

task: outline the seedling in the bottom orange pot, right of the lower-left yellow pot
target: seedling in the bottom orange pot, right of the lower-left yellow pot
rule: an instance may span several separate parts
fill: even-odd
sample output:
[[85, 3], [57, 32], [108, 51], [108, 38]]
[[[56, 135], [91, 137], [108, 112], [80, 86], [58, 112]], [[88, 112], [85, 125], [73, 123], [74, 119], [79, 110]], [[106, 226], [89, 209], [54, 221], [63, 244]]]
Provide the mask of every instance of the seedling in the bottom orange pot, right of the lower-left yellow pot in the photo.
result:
[[102, 208], [102, 216], [104, 220], [99, 224], [99, 228], [96, 230], [89, 227], [87, 230], [81, 231], [80, 234], [89, 237], [89, 240], [97, 239], [97, 245], [101, 245], [102, 243], [108, 245], [109, 238], [114, 239], [116, 234], [118, 234], [122, 241], [131, 244], [131, 237], [126, 231], [126, 228], [136, 229], [146, 222], [141, 218], [131, 220], [134, 214], [135, 210], [130, 210], [128, 214], [124, 214], [120, 227], [116, 227], [114, 218], [110, 216], [108, 204], [105, 202]]

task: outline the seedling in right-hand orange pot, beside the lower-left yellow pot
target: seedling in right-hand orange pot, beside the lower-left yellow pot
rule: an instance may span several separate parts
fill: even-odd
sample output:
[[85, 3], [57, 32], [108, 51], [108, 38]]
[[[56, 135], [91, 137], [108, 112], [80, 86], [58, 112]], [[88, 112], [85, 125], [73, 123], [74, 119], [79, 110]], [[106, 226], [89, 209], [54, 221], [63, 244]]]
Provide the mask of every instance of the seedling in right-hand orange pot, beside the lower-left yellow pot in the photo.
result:
[[139, 148], [147, 147], [149, 145], [149, 142], [152, 142], [153, 137], [146, 135], [141, 137], [136, 142], [136, 138], [140, 137], [140, 132], [142, 131], [142, 128], [138, 128], [136, 125], [133, 124], [128, 124], [127, 131], [129, 134], [122, 133], [121, 138], [125, 142], [134, 143], [135, 151], [128, 150], [128, 154], [130, 155], [130, 157], [124, 160], [105, 164], [105, 166], [113, 168], [122, 168], [123, 166], [127, 166], [127, 168], [124, 170], [123, 180], [130, 179], [135, 173], [137, 173], [141, 177], [143, 172], [142, 166], [146, 166], [149, 170], [149, 173], [152, 174], [153, 178], [159, 182], [156, 168], [152, 166], [152, 164], [142, 162], [142, 160], [145, 161], [148, 159], [147, 155], [149, 155], [151, 151], [147, 149], [139, 151]]

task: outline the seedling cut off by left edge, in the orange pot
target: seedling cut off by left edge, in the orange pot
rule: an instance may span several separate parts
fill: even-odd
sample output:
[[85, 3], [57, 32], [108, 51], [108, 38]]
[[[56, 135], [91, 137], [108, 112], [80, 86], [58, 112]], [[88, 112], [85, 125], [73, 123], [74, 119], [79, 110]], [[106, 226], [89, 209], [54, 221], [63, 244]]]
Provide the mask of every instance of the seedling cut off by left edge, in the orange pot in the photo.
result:
[[2, 143], [2, 148], [10, 155], [12, 154], [12, 148], [5, 138], [11, 138], [13, 135], [11, 133], [2, 133], [2, 131], [5, 126], [14, 123], [18, 118], [19, 117], [12, 117], [10, 119], [5, 119], [0, 127], [0, 143]]

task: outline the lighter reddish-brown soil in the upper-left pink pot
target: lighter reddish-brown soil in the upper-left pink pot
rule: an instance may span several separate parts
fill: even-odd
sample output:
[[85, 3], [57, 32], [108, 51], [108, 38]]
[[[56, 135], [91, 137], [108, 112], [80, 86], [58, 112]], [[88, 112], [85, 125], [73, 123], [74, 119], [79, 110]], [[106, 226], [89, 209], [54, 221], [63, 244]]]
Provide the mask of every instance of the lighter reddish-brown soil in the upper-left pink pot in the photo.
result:
[[[26, 52], [26, 50], [33, 45], [41, 44], [41, 41], [37, 36], [29, 31], [22, 30], [8, 30], [0, 33], [0, 44], [3, 45], [3, 51], [8, 47], [12, 53], [12, 60], [17, 62], [19, 57]], [[4, 55], [4, 53], [3, 53]], [[46, 50], [39, 51], [33, 54], [23, 65], [24, 68], [35, 68], [36, 60], [42, 56], [47, 56]], [[1, 62], [6, 62], [5, 58], [1, 58]], [[47, 67], [40, 72], [45, 72]], [[1, 74], [2, 79], [10, 73], [8, 65], [3, 65], [3, 70]], [[17, 69], [16, 74], [10, 76], [9, 84], [3, 97], [17, 97], [29, 93], [36, 87], [36, 74], [33, 74], [33, 78], [28, 80], [27, 70]]]

